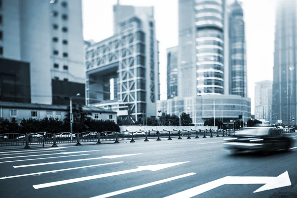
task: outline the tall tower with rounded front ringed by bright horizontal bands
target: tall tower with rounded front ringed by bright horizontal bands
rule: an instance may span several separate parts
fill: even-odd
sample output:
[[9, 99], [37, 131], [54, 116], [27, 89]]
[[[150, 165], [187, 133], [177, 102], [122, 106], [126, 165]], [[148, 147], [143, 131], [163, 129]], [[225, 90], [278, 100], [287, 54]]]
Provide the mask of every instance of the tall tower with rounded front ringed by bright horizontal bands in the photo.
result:
[[224, 19], [225, 0], [179, 0], [179, 96], [224, 94]]

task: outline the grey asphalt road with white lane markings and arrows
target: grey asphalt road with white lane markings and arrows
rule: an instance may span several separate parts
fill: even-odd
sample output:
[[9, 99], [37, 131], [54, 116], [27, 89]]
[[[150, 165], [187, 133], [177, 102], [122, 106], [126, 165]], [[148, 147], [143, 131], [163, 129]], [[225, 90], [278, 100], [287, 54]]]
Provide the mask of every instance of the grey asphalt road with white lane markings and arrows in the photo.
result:
[[[1, 150], [0, 198], [297, 197], [297, 143], [291, 152], [263, 156], [231, 155], [222, 141]], [[264, 191], [253, 193], [262, 186]]]

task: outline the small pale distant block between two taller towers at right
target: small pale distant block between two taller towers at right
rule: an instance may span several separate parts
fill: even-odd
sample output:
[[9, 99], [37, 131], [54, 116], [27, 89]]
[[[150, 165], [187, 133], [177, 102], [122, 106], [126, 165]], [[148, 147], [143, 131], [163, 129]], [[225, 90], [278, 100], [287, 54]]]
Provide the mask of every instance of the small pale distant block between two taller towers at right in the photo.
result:
[[265, 119], [271, 122], [272, 83], [266, 80], [255, 84], [255, 119]]

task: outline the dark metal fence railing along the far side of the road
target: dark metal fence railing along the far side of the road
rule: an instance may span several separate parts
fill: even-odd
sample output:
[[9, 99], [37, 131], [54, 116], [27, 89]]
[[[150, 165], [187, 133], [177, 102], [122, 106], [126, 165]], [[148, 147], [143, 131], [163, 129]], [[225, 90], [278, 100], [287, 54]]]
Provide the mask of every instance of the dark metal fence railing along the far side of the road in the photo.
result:
[[[234, 136], [236, 130], [173, 130], [173, 131], [120, 131], [120, 132], [83, 132], [83, 133], [5, 133], [0, 134], [0, 147], [3, 146], [23, 146], [30, 148], [32, 145], [52, 145], [57, 147], [57, 144], [71, 144], [76, 143], [77, 146], [81, 144], [101, 144], [101, 142], [114, 142], [129, 141], [131, 143], [135, 140], [144, 140], [148, 142], [151, 139], [160, 141], [161, 139], [192, 139], [192, 138], [214, 138], [214, 137], [226, 137]], [[283, 133], [293, 133], [295, 130], [283, 130]]]

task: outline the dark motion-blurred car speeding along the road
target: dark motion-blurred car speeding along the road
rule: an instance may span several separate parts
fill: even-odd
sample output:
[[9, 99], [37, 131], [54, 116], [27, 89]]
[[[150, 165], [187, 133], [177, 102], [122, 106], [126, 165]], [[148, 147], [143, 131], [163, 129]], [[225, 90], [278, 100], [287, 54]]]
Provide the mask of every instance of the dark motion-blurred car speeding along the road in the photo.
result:
[[266, 153], [281, 149], [289, 151], [293, 143], [293, 138], [280, 128], [250, 127], [236, 132], [232, 138], [224, 139], [223, 144], [232, 152], [256, 150]]

